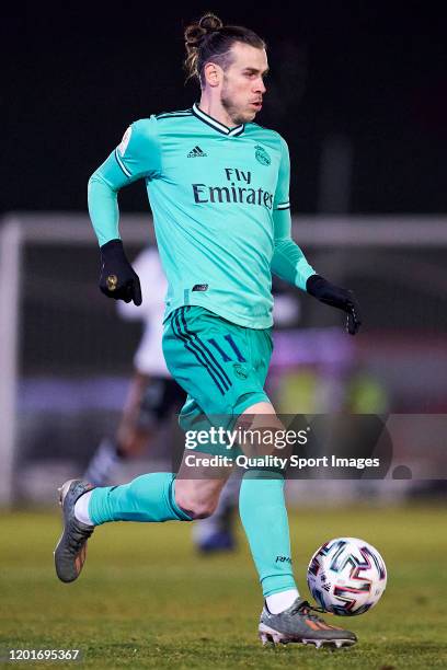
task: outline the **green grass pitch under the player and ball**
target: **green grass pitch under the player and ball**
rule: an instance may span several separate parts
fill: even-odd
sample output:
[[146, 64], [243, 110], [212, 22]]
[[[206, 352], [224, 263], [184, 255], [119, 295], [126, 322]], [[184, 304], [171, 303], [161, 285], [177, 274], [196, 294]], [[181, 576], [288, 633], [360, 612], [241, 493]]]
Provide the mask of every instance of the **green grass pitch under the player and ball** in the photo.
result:
[[78, 667], [88, 668], [447, 668], [445, 505], [303, 508], [290, 515], [290, 525], [306, 596], [307, 562], [324, 540], [359, 536], [386, 559], [388, 588], [377, 608], [339, 620], [358, 635], [352, 649], [261, 646], [262, 597], [240, 530], [236, 554], [203, 558], [187, 523], [104, 525], [90, 541], [80, 579], [64, 585], [53, 567], [55, 507], [0, 515], [2, 654], [80, 648]]

